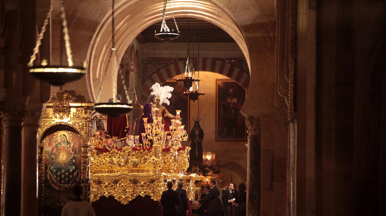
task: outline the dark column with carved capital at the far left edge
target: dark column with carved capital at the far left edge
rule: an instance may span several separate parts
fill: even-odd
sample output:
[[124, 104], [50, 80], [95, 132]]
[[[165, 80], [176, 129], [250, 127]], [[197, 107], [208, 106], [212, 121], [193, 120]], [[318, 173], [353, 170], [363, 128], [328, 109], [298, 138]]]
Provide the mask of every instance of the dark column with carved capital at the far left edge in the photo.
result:
[[23, 105], [2, 107], [2, 216], [20, 215]]

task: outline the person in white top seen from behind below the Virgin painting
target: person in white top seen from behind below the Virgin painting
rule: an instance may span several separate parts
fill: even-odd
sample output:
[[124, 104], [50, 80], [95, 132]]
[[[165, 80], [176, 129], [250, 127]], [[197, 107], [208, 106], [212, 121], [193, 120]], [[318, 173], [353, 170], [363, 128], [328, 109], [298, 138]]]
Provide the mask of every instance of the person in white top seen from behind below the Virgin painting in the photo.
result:
[[75, 185], [73, 191], [75, 198], [64, 205], [61, 216], [95, 216], [90, 202], [81, 199], [82, 187]]

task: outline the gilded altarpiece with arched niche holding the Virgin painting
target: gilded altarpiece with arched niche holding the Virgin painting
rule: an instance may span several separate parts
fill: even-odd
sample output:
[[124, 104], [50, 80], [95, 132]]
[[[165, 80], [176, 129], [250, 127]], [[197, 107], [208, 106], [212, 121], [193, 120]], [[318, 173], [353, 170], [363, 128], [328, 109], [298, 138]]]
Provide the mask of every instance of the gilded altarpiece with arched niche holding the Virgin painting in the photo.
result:
[[76, 184], [88, 197], [92, 110], [93, 103], [62, 90], [46, 104], [38, 132], [39, 215], [60, 215]]

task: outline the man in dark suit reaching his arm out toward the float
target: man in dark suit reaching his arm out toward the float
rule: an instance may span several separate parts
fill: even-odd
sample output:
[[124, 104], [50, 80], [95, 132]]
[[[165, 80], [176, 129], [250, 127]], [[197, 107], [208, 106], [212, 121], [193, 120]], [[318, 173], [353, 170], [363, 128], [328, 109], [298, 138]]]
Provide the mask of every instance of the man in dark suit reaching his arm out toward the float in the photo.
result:
[[216, 179], [210, 180], [210, 191], [207, 194], [207, 196], [203, 197], [200, 201], [196, 201], [195, 205], [197, 204], [203, 204], [205, 201], [208, 202], [208, 215], [209, 216], [221, 216], [221, 199], [220, 194], [221, 191], [216, 186], [217, 181]]

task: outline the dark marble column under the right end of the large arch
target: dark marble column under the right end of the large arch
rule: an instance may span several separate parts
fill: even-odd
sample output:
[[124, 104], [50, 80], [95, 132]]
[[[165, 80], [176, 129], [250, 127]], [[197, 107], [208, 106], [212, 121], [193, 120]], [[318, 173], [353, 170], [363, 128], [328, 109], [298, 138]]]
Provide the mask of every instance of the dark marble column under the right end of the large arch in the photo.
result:
[[261, 129], [260, 119], [249, 117], [247, 164], [247, 215], [260, 215], [261, 205]]

